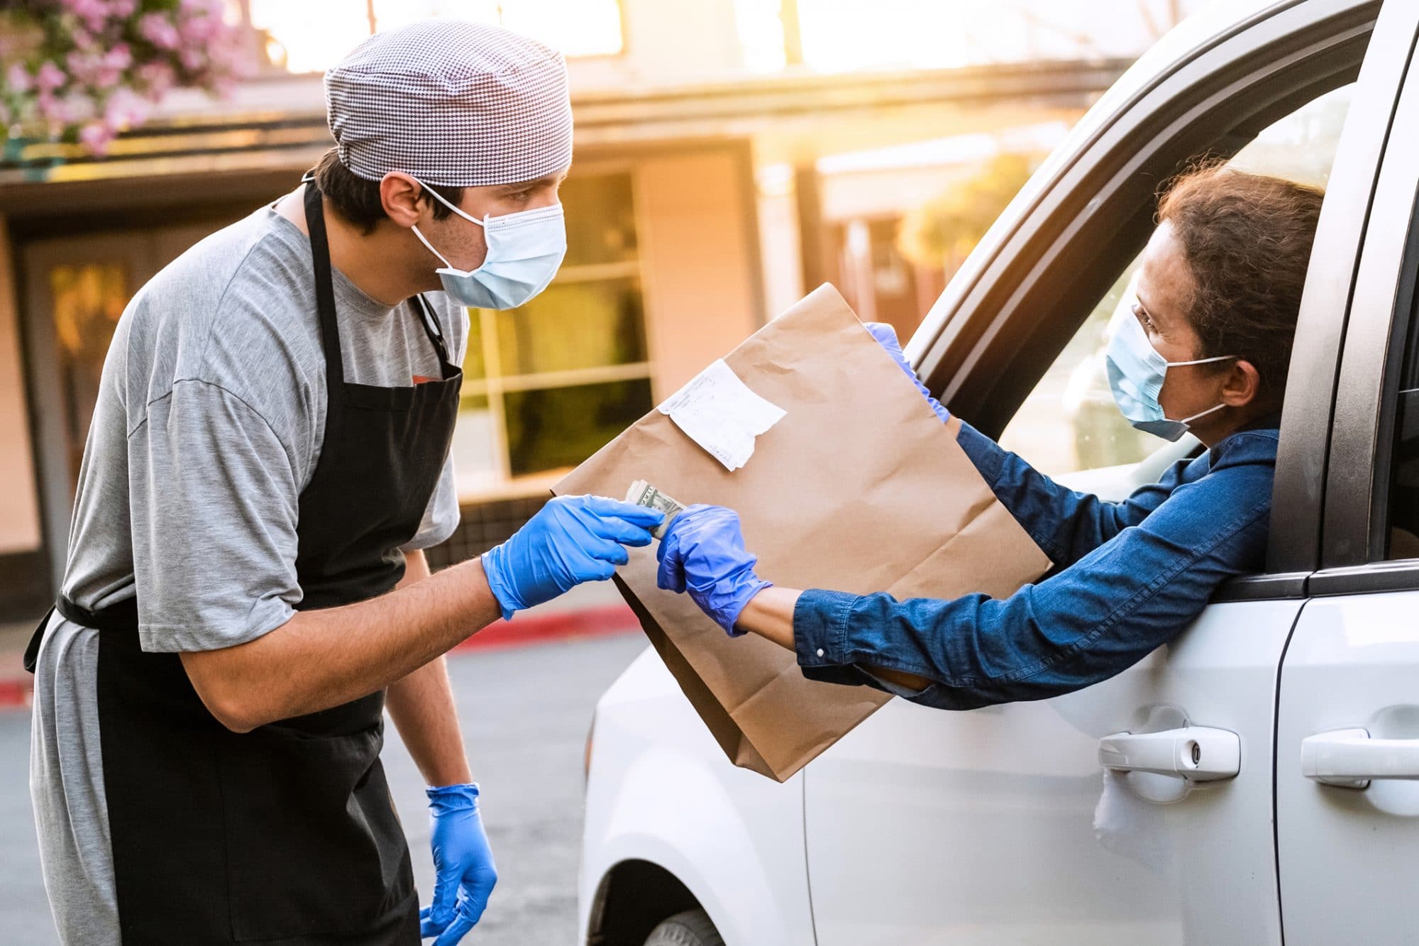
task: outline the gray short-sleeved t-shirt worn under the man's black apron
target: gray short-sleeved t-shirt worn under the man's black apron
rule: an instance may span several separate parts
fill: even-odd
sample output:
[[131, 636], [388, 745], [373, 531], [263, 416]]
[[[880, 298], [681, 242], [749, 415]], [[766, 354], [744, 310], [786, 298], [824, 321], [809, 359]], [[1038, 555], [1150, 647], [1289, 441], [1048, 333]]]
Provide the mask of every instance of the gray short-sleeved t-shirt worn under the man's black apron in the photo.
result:
[[[338, 270], [345, 379], [438, 378], [416, 304], [372, 300]], [[463, 359], [467, 311], [429, 298]], [[87, 608], [136, 585], [146, 651], [209, 651], [281, 626], [301, 601], [297, 509], [325, 430], [311, 243], [271, 207], [196, 244], [118, 324], [79, 472], [65, 594]], [[358, 510], [352, 510], [358, 513]], [[458, 524], [453, 464], [406, 550]]]

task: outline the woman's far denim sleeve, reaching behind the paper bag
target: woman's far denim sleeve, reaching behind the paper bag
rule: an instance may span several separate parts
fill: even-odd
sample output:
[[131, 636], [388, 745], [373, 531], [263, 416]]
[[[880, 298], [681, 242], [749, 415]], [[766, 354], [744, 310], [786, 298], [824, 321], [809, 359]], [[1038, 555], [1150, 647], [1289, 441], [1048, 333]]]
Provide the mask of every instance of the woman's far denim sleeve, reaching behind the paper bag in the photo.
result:
[[1192, 463], [1179, 460], [1156, 483], [1134, 490], [1122, 503], [1110, 503], [1093, 493], [1060, 486], [969, 423], [961, 423], [956, 443], [1000, 504], [1056, 567], [1074, 564], [1124, 528], [1141, 523], [1168, 499]]

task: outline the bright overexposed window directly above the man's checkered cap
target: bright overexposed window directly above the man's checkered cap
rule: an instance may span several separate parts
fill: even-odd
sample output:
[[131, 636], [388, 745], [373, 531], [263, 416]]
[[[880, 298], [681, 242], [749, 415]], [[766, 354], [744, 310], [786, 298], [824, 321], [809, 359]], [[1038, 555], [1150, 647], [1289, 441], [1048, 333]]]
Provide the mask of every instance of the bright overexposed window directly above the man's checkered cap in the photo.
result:
[[419, 20], [491, 23], [568, 57], [616, 55], [624, 47], [620, 0], [245, 0], [271, 68], [324, 72], [366, 37]]

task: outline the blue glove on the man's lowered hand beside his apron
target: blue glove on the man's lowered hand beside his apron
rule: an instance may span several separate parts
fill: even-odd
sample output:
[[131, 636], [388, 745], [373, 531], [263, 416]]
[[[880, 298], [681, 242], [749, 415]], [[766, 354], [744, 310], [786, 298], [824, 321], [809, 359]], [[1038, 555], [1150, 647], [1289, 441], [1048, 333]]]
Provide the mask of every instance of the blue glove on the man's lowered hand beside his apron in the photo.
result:
[[419, 935], [455, 946], [488, 905], [498, 868], [478, 814], [478, 785], [426, 788], [434, 837], [434, 899], [419, 910]]

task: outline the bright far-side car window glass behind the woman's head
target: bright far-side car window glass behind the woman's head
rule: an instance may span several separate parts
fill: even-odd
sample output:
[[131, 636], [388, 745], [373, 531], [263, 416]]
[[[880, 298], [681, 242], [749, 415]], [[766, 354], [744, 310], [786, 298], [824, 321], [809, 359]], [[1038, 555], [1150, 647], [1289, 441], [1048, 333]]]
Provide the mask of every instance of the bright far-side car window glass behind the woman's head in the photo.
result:
[[[1311, 99], [1263, 129], [1230, 163], [1253, 173], [1325, 186], [1352, 91], [1354, 85], [1344, 85]], [[1118, 268], [1112, 286], [1000, 435], [1002, 446], [1020, 453], [1043, 473], [1060, 476], [1137, 463], [1162, 445], [1124, 420], [1104, 374], [1110, 321], [1138, 261], [1134, 257]], [[1413, 473], [1419, 489], [1419, 463]]]

